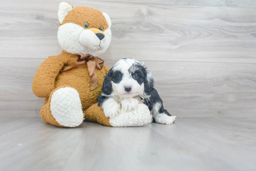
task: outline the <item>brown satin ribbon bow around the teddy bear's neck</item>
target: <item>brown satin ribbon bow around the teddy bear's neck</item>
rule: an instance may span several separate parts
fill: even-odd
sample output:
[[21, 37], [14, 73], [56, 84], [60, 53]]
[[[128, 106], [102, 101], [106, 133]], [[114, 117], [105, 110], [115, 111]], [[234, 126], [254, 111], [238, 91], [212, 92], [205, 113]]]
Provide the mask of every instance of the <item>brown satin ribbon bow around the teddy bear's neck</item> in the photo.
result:
[[101, 58], [96, 58], [90, 54], [77, 53], [76, 55], [78, 56], [77, 62], [72, 67], [65, 67], [61, 71], [66, 71], [75, 67], [82, 66], [85, 64], [85, 62], [87, 62], [87, 67], [90, 74], [91, 91], [96, 89], [96, 87], [98, 87], [96, 67], [102, 69], [104, 61]]

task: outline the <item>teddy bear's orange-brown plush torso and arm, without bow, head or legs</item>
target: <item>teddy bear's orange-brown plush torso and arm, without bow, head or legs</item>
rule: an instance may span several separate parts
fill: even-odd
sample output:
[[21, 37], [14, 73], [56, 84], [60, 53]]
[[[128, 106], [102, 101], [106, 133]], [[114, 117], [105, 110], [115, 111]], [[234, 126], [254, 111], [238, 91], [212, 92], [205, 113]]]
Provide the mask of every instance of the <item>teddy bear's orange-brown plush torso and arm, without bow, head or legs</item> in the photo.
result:
[[96, 68], [98, 87], [91, 91], [90, 74], [85, 63], [83, 66], [60, 72], [63, 67], [71, 67], [77, 61], [75, 54], [62, 51], [60, 55], [47, 58], [38, 68], [32, 83], [32, 90], [38, 97], [49, 97], [51, 92], [61, 86], [73, 87], [78, 91], [82, 107], [88, 108], [96, 103], [101, 93], [101, 85], [109, 68]]

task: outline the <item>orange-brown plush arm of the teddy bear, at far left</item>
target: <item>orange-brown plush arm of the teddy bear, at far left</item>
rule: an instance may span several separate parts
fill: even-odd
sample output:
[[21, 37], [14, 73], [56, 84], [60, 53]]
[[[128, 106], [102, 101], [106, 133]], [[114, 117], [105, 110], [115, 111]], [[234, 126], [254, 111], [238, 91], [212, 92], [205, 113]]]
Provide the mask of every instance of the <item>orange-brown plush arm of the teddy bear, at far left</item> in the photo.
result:
[[65, 65], [58, 57], [47, 58], [38, 68], [32, 83], [33, 93], [37, 97], [49, 97], [54, 90], [55, 79]]

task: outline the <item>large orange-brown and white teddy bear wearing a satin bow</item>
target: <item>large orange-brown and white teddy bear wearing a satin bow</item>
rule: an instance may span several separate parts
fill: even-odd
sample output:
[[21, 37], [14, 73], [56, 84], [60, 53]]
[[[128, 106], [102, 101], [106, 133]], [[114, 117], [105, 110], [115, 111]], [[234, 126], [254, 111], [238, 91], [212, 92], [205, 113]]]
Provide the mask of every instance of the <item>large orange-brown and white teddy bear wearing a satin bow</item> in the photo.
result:
[[39, 66], [32, 83], [33, 93], [44, 98], [40, 110], [43, 121], [59, 127], [77, 127], [84, 119], [114, 127], [152, 122], [150, 111], [143, 103], [109, 118], [96, 102], [109, 70], [98, 58], [111, 42], [108, 14], [89, 7], [73, 8], [62, 2], [58, 18], [57, 38], [63, 51]]

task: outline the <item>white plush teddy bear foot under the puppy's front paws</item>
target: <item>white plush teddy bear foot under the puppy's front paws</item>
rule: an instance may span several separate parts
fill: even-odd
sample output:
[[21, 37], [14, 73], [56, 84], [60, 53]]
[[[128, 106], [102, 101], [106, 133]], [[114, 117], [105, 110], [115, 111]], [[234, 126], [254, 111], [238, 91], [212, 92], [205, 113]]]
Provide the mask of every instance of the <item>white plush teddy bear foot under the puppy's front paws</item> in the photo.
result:
[[113, 127], [143, 126], [153, 121], [152, 115], [147, 105], [139, 103], [136, 109], [128, 112], [121, 112], [109, 118], [109, 123]]

